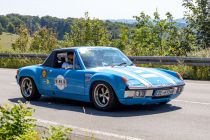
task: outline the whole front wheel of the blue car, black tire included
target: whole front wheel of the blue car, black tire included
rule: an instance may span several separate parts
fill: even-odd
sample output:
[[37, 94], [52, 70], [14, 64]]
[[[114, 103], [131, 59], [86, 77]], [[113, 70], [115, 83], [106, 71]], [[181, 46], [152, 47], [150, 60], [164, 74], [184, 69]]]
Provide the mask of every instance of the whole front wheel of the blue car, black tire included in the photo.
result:
[[[101, 90], [101, 94], [102, 93], [102, 89], [99, 89], [99, 88], [106, 88], [105, 90], [108, 90], [107, 92], [107, 95], [105, 97], [105, 95], [103, 97], [100, 97], [102, 95], [99, 95], [99, 91]], [[106, 92], [104, 90], [104, 93]], [[91, 97], [92, 97], [92, 102], [94, 104], [94, 106], [99, 109], [99, 110], [103, 110], [103, 111], [109, 111], [109, 110], [112, 110], [113, 108], [115, 108], [117, 106], [117, 99], [116, 99], [116, 96], [115, 96], [115, 93], [112, 89], [112, 87], [106, 83], [106, 82], [96, 82], [94, 83], [93, 85], [93, 88], [92, 88], [92, 92], [91, 92]], [[107, 99], [107, 97], [109, 97]], [[105, 100], [107, 100], [107, 103], [102, 103], [103, 102], [103, 99], [101, 100], [102, 98], [105, 98]]]

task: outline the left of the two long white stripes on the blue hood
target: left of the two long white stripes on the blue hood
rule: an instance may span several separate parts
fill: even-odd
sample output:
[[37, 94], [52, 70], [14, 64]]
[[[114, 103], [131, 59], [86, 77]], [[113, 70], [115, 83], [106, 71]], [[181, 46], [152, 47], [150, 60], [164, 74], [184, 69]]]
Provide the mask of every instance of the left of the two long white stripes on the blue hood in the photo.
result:
[[142, 79], [142, 78], [136, 76], [135, 74], [132, 74], [131, 72], [127, 72], [125, 70], [120, 70], [120, 69], [115, 69], [115, 68], [111, 68], [110, 70], [113, 70], [113, 71], [116, 71], [116, 72], [119, 72], [119, 73], [123, 73], [125, 75], [128, 75], [128, 76], [134, 78], [134, 79], [137, 79], [139, 82], [141, 82], [142, 84], [144, 84], [147, 87], [152, 86], [152, 83], [150, 83], [149, 81], [146, 81], [145, 79]]

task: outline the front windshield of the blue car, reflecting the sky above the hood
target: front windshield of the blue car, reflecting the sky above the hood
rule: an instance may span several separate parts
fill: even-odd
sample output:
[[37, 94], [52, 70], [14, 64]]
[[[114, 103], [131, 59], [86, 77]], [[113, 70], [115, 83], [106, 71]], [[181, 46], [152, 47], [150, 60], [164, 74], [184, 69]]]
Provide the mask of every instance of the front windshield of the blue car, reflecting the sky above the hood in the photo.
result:
[[79, 53], [86, 68], [133, 65], [127, 56], [115, 48], [80, 48]]

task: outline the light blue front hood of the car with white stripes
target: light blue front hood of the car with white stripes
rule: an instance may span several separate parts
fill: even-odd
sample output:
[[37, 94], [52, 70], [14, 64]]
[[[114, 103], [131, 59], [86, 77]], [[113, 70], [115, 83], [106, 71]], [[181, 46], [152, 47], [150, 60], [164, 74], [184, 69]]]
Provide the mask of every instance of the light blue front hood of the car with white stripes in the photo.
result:
[[125, 77], [128, 80], [129, 86], [163, 87], [184, 84], [184, 81], [179, 79], [176, 75], [171, 75], [156, 68], [115, 66], [93, 68], [92, 70]]

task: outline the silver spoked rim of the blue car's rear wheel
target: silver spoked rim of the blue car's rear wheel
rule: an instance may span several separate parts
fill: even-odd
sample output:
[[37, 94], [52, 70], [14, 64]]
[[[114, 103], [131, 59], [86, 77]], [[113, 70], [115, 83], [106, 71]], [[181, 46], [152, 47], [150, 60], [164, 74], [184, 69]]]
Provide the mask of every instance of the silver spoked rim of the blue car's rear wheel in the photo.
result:
[[32, 81], [29, 78], [25, 78], [21, 84], [21, 91], [25, 97], [29, 97], [32, 94]]

